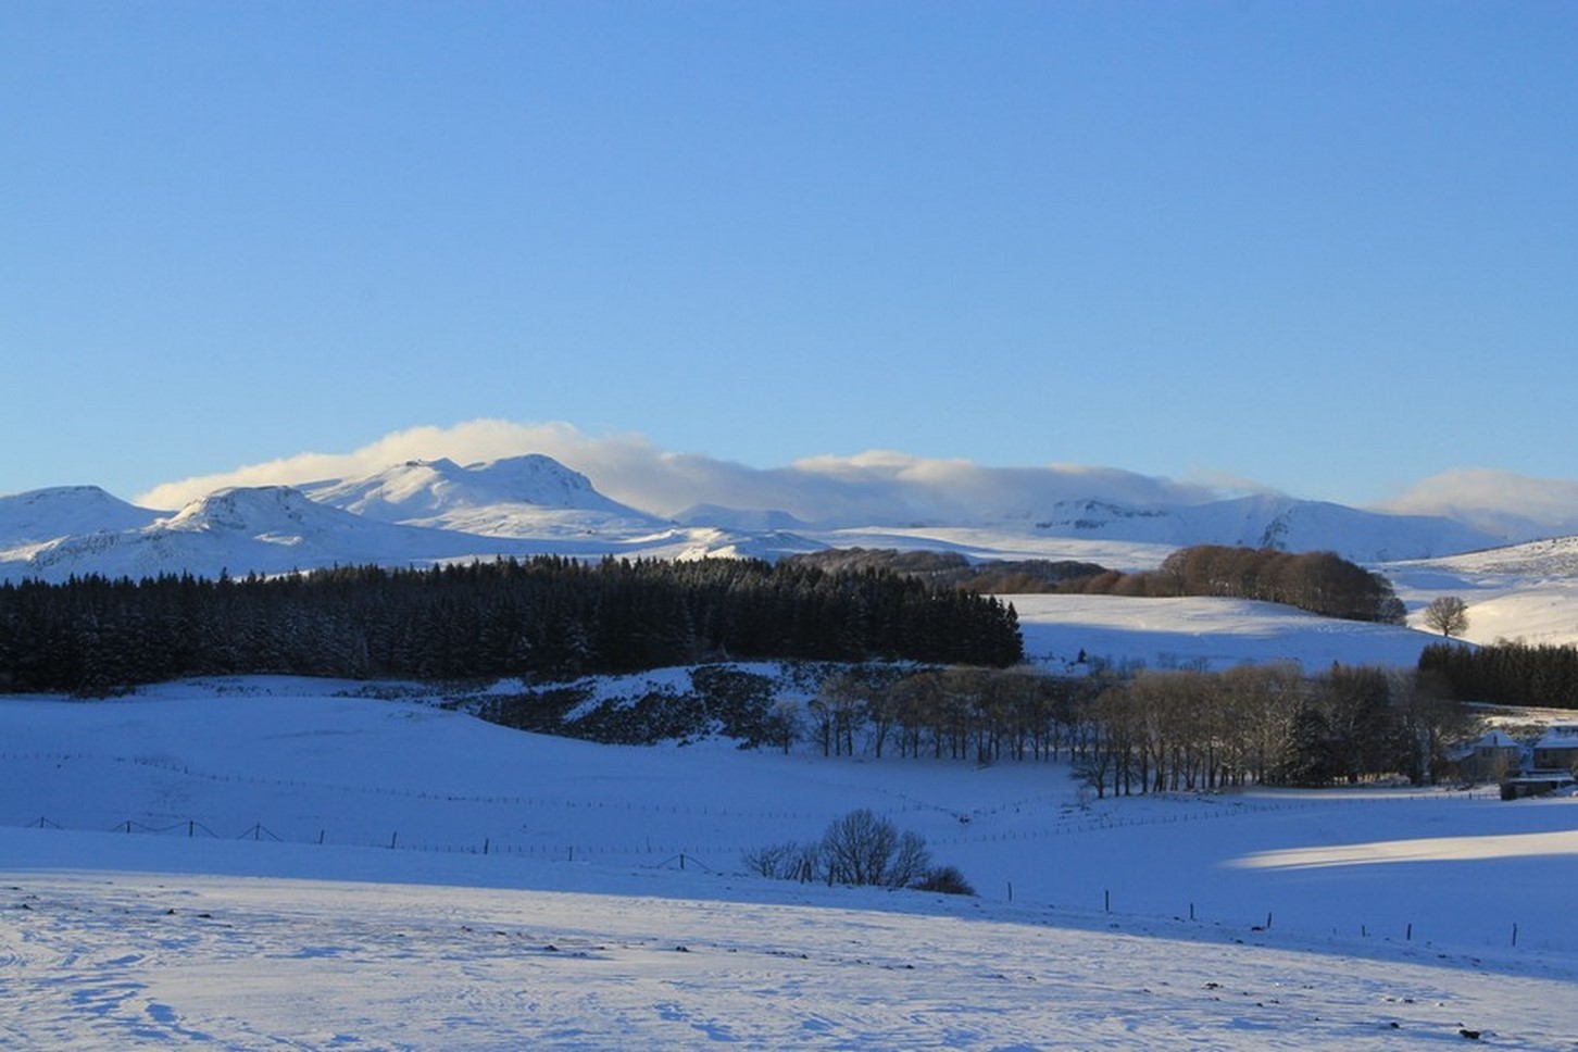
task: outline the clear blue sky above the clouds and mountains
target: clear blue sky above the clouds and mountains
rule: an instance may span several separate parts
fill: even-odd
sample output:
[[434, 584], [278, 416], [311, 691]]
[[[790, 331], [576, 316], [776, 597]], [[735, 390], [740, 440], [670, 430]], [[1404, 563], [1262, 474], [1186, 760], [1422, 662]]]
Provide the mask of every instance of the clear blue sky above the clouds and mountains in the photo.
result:
[[1578, 5], [0, 5], [0, 492], [418, 424], [1572, 478]]

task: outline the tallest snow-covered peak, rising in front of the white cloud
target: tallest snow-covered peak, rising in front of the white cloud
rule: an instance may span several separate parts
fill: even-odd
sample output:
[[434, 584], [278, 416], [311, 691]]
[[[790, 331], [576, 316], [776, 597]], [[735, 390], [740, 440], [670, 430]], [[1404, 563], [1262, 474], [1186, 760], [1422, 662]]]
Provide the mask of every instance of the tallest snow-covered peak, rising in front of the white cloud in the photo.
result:
[[664, 525], [656, 516], [596, 492], [585, 475], [535, 454], [466, 467], [447, 459], [409, 461], [301, 491], [319, 503], [377, 522], [483, 536], [630, 533]]

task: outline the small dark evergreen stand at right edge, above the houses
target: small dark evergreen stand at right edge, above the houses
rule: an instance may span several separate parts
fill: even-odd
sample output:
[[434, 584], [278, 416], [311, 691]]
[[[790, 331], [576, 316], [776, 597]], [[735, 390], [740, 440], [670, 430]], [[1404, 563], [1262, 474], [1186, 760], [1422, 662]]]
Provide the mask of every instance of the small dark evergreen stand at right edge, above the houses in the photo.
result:
[[1419, 667], [1439, 675], [1453, 694], [1466, 700], [1578, 708], [1575, 647], [1431, 644], [1419, 653]]

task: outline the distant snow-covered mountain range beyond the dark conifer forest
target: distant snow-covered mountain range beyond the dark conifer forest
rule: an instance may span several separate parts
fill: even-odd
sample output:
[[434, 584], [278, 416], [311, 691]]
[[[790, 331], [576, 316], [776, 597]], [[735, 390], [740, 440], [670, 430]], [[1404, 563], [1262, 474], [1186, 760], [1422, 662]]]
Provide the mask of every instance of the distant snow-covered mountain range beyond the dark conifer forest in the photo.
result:
[[0, 579], [9, 580], [241, 576], [532, 554], [776, 558], [852, 544], [1095, 561], [1117, 550], [1119, 563], [1142, 565], [1202, 543], [1335, 550], [1365, 563], [1499, 544], [1452, 519], [1277, 495], [1195, 505], [1060, 500], [956, 524], [810, 524], [784, 511], [721, 505], [669, 519], [611, 500], [585, 475], [538, 454], [470, 465], [409, 461], [300, 487], [229, 487], [175, 511], [139, 508], [92, 486], [0, 497]]

